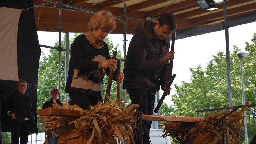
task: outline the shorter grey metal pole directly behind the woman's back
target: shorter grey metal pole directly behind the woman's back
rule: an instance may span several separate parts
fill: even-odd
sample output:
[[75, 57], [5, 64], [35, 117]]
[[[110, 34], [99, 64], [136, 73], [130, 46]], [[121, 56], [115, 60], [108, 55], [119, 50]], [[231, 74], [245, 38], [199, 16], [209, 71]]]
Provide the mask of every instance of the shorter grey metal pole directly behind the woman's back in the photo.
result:
[[[65, 33], [65, 48], [66, 49], [69, 49], [69, 33], [66, 32]], [[66, 70], [66, 73], [65, 73], [65, 81], [67, 81], [68, 79], [68, 67], [69, 67], [69, 52], [68, 51], [65, 51], [65, 70]], [[66, 93], [65, 95], [65, 100], [68, 101], [68, 93]]]

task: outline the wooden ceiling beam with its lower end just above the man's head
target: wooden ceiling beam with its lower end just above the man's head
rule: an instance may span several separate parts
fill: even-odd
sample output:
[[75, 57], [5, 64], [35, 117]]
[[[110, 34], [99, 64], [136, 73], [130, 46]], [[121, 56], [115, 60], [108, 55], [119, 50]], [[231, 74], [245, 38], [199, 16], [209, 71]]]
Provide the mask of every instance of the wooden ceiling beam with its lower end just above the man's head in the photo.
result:
[[180, 3], [172, 4], [168, 8], [163, 10], [161, 13], [158, 13], [158, 12], [160, 12], [165, 7], [154, 9], [152, 11], [148, 11], [147, 13], [148, 13], [148, 16], [150, 16], [150, 17], [154, 16], [157, 13], [158, 13], [157, 16], [159, 16], [162, 13], [165, 13], [165, 12], [173, 12], [173, 11], [177, 11], [179, 9], [188, 8], [188, 7], [191, 7], [191, 6], [193, 6], [193, 7], [197, 6], [197, 3], [196, 3], [195, 0], [187, 0], [187, 1], [182, 1]]

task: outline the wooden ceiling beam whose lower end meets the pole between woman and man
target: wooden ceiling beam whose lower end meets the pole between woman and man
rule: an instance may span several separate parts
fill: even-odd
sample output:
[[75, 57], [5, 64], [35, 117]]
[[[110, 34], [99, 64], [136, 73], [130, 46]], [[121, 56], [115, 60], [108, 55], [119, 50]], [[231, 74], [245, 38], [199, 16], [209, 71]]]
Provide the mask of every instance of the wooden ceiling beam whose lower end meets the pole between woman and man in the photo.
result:
[[127, 7], [126, 11], [127, 11], [127, 13], [133, 12], [133, 11], [138, 11], [143, 8], [148, 8], [148, 7], [157, 5], [157, 4], [165, 3], [166, 1], [170, 1], [170, 0], [147, 0], [147, 1], [143, 1], [141, 3]]

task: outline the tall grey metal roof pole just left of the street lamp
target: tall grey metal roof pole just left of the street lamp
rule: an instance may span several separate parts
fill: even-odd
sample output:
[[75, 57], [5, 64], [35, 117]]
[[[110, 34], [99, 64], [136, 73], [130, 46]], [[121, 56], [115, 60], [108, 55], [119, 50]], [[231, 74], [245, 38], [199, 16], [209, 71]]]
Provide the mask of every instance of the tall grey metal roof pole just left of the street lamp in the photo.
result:
[[226, 38], [226, 63], [227, 63], [227, 87], [229, 96], [229, 107], [232, 104], [232, 88], [231, 88], [231, 74], [230, 74], [230, 57], [229, 57], [229, 28], [227, 27], [227, 7], [226, 3], [223, 4], [224, 11], [224, 27], [225, 27], [225, 38]]

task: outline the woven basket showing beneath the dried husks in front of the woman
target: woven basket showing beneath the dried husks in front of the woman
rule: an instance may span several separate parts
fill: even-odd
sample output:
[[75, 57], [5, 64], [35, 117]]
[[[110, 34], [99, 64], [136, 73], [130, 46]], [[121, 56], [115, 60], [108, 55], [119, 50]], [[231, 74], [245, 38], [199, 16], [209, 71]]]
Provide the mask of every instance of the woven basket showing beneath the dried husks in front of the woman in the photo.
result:
[[[71, 131], [68, 135], [66, 136], [59, 136], [58, 140], [57, 140], [57, 144], [86, 144], [88, 139], [86, 139], [84, 136], [80, 136], [80, 137], [75, 137], [72, 139], [67, 140], [69, 137], [74, 137], [77, 134], [75, 133], [75, 131]], [[94, 141], [91, 142], [91, 144], [98, 144], [95, 143]]]

